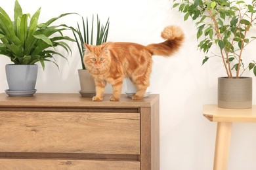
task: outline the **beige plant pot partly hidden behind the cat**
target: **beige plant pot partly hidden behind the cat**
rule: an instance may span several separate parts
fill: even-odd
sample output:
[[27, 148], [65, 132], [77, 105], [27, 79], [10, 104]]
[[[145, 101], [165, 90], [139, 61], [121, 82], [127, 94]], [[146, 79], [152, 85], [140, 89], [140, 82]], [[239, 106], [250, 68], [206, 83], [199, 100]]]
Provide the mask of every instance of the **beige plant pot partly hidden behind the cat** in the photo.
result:
[[95, 80], [93, 76], [90, 75], [90, 73], [87, 70], [84, 69], [78, 69], [78, 76], [79, 76], [79, 82], [80, 82], [80, 88], [81, 90], [79, 93], [83, 97], [93, 97], [96, 94], [95, 90]]

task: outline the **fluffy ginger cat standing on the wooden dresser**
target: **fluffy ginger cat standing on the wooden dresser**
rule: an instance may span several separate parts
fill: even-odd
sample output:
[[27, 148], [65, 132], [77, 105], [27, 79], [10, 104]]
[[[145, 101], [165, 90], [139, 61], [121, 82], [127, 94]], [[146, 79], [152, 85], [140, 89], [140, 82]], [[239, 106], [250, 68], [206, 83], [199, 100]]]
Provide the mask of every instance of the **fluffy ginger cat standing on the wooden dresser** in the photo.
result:
[[150, 85], [152, 55], [171, 56], [179, 50], [184, 39], [180, 27], [170, 25], [161, 32], [164, 42], [143, 46], [133, 42], [106, 42], [95, 46], [85, 43], [83, 62], [95, 78], [96, 95], [93, 101], [102, 101], [106, 83], [113, 88], [110, 101], [119, 101], [125, 77], [137, 87], [133, 100], [143, 99]]

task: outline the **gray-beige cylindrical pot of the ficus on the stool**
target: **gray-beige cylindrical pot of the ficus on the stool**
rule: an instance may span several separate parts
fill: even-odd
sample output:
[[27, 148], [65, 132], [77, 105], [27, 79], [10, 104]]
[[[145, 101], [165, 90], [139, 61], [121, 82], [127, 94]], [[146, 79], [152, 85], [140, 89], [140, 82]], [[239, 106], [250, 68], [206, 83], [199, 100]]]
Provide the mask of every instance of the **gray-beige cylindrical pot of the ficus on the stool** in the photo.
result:
[[252, 107], [252, 78], [218, 78], [218, 107], [249, 109]]

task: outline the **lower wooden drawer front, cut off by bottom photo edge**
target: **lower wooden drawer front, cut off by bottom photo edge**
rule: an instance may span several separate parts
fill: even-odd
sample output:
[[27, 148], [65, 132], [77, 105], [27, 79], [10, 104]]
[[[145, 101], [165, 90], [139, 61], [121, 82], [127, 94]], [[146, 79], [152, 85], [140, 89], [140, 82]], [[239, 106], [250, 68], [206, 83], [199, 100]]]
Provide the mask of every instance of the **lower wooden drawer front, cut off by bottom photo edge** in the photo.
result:
[[26, 160], [26, 159], [0, 159], [0, 169], [5, 170], [139, 170], [139, 161], [91, 161], [91, 160]]

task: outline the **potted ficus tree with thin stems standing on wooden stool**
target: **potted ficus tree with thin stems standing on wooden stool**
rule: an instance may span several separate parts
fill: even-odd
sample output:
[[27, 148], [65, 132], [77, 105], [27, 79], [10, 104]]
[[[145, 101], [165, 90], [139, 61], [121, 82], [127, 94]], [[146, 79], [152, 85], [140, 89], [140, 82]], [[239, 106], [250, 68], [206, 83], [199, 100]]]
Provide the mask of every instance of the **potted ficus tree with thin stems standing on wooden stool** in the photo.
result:
[[249, 34], [256, 22], [256, 1], [251, 0], [250, 4], [240, 0], [173, 1], [173, 8], [177, 7], [184, 13], [184, 20], [190, 17], [196, 21], [198, 48], [206, 54], [213, 46], [219, 48], [218, 52], [211, 51], [212, 55], [205, 56], [202, 62], [204, 64], [211, 57], [219, 57], [223, 62], [226, 76], [218, 78], [218, 106], [250, 108], [252, 78], [242, 74], [249, 69], [256, 76], [256, 63], [245, 64], [242, 54], [245, 47], [256, 39], [255, 33]]

